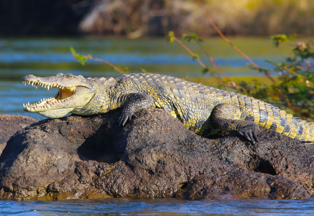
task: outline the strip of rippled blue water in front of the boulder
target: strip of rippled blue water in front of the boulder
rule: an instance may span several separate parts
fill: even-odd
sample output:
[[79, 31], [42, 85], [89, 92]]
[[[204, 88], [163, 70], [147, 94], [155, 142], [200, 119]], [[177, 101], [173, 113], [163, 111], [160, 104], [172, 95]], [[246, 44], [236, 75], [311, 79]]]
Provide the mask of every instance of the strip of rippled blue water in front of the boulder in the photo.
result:
[[307, 200], [115, 198], [65, 201], [1, 201], [1, 215], [313, 215]]

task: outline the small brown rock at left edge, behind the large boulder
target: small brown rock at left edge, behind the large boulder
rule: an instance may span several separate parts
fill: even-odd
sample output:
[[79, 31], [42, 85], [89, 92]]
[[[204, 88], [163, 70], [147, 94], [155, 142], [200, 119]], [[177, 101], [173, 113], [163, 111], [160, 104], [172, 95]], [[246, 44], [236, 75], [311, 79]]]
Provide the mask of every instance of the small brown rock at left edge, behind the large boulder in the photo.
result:
[[37, 121], [28, 116], [0, 114], [0, 154], [13, 134]]

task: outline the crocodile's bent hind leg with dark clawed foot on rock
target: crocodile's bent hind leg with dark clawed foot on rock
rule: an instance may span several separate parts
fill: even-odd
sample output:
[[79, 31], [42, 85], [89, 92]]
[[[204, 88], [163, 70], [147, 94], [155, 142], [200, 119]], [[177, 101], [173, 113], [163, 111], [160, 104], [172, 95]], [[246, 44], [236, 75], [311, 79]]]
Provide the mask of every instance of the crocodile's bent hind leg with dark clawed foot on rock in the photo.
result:
[[221, 103], [214, 107], [211, 121], [214, 126], [223, 131], [237, 131], [238, 134], [255, 144], [259, 126], [252, 121], [245, 120], [246, 112], [231, 103]]

